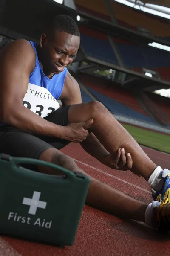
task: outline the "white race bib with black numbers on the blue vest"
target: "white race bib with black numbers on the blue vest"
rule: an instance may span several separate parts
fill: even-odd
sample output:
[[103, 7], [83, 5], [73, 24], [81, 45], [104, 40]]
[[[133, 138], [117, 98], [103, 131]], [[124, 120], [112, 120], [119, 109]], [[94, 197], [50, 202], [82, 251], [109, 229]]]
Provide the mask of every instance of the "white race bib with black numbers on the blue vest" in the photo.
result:
[[48, 116], [59, 108], [59, 103], [52, 94], [35, 84], [28, 85], [23, 105], [41, 117]]

